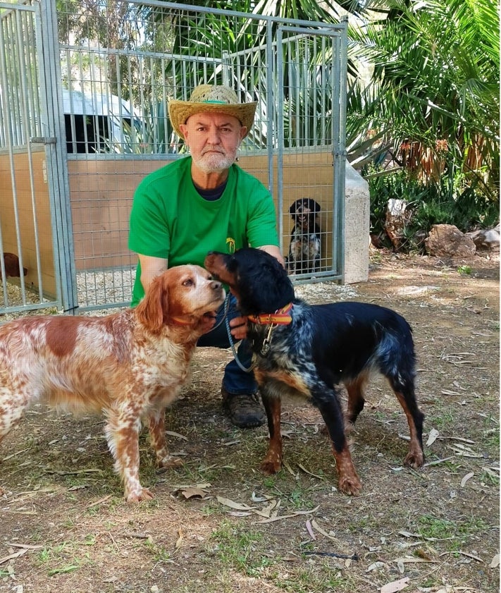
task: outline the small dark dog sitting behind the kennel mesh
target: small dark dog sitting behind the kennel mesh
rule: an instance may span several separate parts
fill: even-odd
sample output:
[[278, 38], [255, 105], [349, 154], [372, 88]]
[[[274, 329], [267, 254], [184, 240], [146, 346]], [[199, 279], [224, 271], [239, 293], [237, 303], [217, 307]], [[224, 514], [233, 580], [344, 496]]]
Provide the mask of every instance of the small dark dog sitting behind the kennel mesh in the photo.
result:
[[294, 226], [290, 233], [287, 269], [291, 274], [311, 273], [320, 266], [320, 226], [316, 216], [320, 204], [311, 197], [302, 197], [292, 202], [289, 214]]

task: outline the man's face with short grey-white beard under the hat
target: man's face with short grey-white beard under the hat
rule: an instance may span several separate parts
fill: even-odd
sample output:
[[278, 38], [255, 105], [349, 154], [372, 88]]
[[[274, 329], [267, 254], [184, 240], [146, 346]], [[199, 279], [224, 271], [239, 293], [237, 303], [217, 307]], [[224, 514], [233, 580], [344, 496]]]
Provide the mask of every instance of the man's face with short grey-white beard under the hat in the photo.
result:
[[211, 113], [192, 115], [180, 129], [194, 165], [204, 173], [229, 169], [247, 132], [236, 117]]

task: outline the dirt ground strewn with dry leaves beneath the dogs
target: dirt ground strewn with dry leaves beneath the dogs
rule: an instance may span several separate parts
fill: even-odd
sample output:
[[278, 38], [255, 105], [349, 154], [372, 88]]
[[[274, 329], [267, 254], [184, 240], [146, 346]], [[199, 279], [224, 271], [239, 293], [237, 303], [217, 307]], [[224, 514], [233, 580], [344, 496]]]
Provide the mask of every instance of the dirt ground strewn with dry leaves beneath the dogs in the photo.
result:
[[0, 592], [497, 593], [499, 258], [373, 252], [356, 286], [297, 287], [309, 302], [364, 300], [412, 324], [427, 464], [402, 467], [407, 422], [375, 379], [352, 434], [364, 484], [336, 489], [318, 412], [285, 404], [285, 467], [259, 472], [267, 432], [223, 416], [229, 351], [200, 349], [167, 414], [183, 467], [155, 471], [128, 505], [101, 418], [30, 411], [0, 445]]

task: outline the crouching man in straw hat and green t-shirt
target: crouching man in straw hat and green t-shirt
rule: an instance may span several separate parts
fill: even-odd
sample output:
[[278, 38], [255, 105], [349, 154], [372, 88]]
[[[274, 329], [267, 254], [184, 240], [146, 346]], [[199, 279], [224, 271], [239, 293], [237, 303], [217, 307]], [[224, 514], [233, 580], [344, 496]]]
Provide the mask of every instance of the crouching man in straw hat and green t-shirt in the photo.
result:
[[[230, 253], [250, 245], [284, 264], [273, 199], [260, 181], [235, 164], [255, 111], [256, 103], [240, 103], [232, 89], [217, 85], [199, 85], [189, 101], [169, 102], [172, 126], [191, 156], [154, 171], [135, 192], [129, 248], [137, 252], [139, 264], [132, 306], [162, 271], [180, 264], [203, 266], [211, 250]], [[233, 295], [228, 319], [233, 339], [242, 340], [238, 359], [248, 368], [252, 354], [243, 339], [245, 318]], [[198, 345], [228, 348], [223, 307], [207, 324], [208, 333]], [[221, 394], [233, 424], [245, 428], [264, 423], [254, 376], [236, 360], [225, 367]]]

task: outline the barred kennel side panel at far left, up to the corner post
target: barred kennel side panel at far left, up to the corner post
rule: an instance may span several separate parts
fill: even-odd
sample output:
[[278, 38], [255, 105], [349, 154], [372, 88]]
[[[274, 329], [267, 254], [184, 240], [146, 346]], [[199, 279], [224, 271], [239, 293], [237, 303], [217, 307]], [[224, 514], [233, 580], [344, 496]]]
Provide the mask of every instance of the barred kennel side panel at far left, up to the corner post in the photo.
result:
[[76, 302], [53, 16], [0, 4], [0, 313]]

